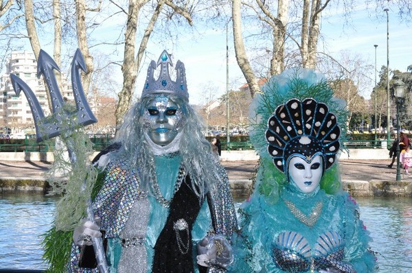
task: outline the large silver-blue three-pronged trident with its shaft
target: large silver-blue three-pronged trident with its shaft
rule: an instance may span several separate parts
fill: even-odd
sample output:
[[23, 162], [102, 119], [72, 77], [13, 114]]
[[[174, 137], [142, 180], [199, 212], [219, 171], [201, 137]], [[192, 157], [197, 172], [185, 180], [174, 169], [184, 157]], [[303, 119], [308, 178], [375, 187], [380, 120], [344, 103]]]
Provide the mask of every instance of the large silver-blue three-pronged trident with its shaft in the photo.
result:
[[[58, 83], [56, 80], [56, 75], [54, 75], [53, 69], [60, 72], [58, 65], [52, 57], [50, 57], [45, 51], [40, 50], [38, 56], [38, 66], [37, 66], [37, 78], [41, 75], [46, 79], [47, 87], [49, 88], [50, 98], [52, 100], [52, 110], [53, 113], [49, 117], [45, 117], [45, 114], [38, 102], [38, 99], [34, 95], [34, 92], [21, 78], [11, 74], [10, 79], [12, 80], [12, 86], [16, 95], [20, 95], [23, 91], [27, 97], [30, 109], [32, 110], [32, 115], [34, 119], [34, 126], [36, 128], [37, 143], [45, 140], [57, 137], [60, 134], [63, 137], [67, 137], [71, 132], [80, 128], [82, 126], [87, 126], [92, 123], [98, 122], [98, 120], [91, 112], [89, 104], [87, 103], [86, 96], [84, 95], [82, 82], [80, 80], [80, 69], [84, 72], [87, 71], [86, 64], [84, 63], [84, 58], [80, 49], [76, 50], [73, 60], [71, 62], [71, 85], [73, 88], [74, 101], [76, 102], [76, 111], [71, 112], [65, 110], [63, 105], [62, 95], [58, 88]], [[69, 130], [63, 130], [63, 121], [70, 121]], [[72, 164], [76, 163], [76, 154], [73, 152], [73, 148], [67, 145], [67, 152], [69, 153], [69, 158]], [[85, 181], [84, 181], [85, 187]], [[91, 198], [87, 201], [87, 218], [89, 221], [94, 222], [94, 213]], [[96, 261], [98, 263], [98, 269], [101, 273], [108, 272], [108, 266], [106, 261], [106, 256], [104, 254], [103, 241], [102, 238], [93, 238], [93, 248], [95, 249]]]

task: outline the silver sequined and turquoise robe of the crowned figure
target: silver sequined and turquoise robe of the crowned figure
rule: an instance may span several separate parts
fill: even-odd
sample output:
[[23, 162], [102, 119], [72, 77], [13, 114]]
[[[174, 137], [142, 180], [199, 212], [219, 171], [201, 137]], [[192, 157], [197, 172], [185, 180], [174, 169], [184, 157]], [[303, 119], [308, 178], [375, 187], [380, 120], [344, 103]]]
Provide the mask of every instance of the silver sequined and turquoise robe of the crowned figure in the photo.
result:
[[[157, 156], [155, 162], [157, 170], [159, 170], [157, 172], [159, 186], [165, 198], [170, 199], [175, 191], [174, 181], [179, 176], [181, 156], [179, 154]], [[106, 231], [108, 238], [107, 256], [111, 272], [117, 272], [117, 267], [130, 268], [119, 272], [152, 272], [154, 248], [168, 217], [168, 209], [161, 206], [154, 197], [141, 191], [139, 179], [133, 171], [127, 171], [126, 165], [126, 161], [107, 165], [108, 172], [104, 178], [102, 189], [93, 202], [93, 207], [95, 213], [102, 218], [102, 229]], [[216, 191], [207, 194], [207, 200], [203, 202], [198, 215], [195, 215], [196, 222], [192, 228], [192, 241], [190, 242], [191, 251], [196, 249], [197, 242], [205, 237], [207, 231], [214, 230], [215, 233], [229, 238], [232, 230], [236, 227], [236, 215], [233, 211], [229, 181], [222, 166], [220, 166], [220, 171], [225, 184], [219, 185]], [[186, 177], [179, 178], [183, 181]], [[183, 182], [182, 185], [185, 183]], [[198, 204], [197, 198], [194, 201], [194, 205]], [[209, 207], [208, 203], [212, 205]], [[187, 208], [185, 209], [187, 210]], [[228, 217], [222, 218], [222, 215]], [[213, 219], [213, 226], [211, 219]], [[176, 240], [176, 238], [173, 239]], [[127, 247], [127, 244], [130, 246]], [[138, 252], [140, 256], [124, 254], [132, 248], [145, 248], [145, 250]], [[179, 246], [176, 247], [176, 252], [178, 248]], [[71, 272], [98, 272], [97, 269], [78, 268], [79, 253], [78, 246], [73, 246]], [[196, 259], [192, 255], [190, 257], [190, 262], [196, 263]], [[209, 270], [209, 272], [223, 271], [217, 268]], [[163, 271], [155, 270], [154, 272]], [[170, 269], [168, 272], [185, 271], [175, 268], [175, 270]], [[198, 271], [195, 270], [195, 272]]]

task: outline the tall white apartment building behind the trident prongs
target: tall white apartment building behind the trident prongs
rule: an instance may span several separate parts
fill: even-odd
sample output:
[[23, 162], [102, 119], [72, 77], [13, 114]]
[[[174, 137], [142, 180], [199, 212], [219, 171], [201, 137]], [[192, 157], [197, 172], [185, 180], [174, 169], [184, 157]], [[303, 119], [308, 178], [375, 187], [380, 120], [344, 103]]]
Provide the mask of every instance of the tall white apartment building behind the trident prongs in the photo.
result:
[[[19, 96], [14, 93], [10, 81], [11, 73], [18, 75], [30, 86], [45, 115], [50, 114], [43, 78], [38, 79], [36, 76], [37, 62], [34, 54], [28, 51], [13, 51], [8, 59], [5, 74], [0, 76], [0, 126], [17, 128], [17, 132], [26, 128], [34, 128], [32, 110], [27, 102], [27, 98], [23, 92]], [[63, 97], [73, 100], [71, 84], [67, 82], [63, 74], [61, 93]]]

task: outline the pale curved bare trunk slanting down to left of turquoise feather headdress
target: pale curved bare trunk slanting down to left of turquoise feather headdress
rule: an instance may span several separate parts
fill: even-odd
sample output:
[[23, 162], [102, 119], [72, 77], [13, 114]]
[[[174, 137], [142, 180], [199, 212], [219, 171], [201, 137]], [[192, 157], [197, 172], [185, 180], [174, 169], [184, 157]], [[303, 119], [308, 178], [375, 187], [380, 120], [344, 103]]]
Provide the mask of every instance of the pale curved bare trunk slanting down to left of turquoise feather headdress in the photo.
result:
[[238, 65], [240, 67], [240, 70], [242, 70], [247, 84], [249, 84], [251, 96], [253, 97], [255, 93], [260, 92], [260, 87], [258, 85], [258, 79], [255, 77], [251, 64], [249, 63], [249, 60], [247, 58], [246, 50], [244, 49], [240, 14], [240, 0], [232, 1], [232, 21], [233, 43], [235, 45], [236, 60], [238, 61]]

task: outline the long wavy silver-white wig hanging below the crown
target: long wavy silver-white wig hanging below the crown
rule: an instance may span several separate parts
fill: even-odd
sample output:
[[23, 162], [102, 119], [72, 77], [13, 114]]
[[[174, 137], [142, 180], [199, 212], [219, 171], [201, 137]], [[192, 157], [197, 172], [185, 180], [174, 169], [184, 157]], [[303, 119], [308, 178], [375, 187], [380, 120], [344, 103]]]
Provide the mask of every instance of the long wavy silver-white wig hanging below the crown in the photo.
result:
[[[115, 139], [115, 142], [121, 142], [122, 145], [111, 156], [113, 159], [127, 159], [128, 169], [139, 174], [140, 185], [148, 193], [154, 192], [152, 187], [152, 174], [155, 174], [154, 154], [139, 119], [144, 115], [151, 99], [152, 96], [144, 97], [126, 113], [124, 123]], [[179, 152], [182, 156], [182, 164], [187, 174], [190, 174], [192, 189], [202, 201], [207, 191], [216, 189], [217, 183], [222, 182], [220, 163], [211, 153], [210, 143], [201, 132], [203, 122], [194, 109], [180, 97], [170, 95], [170, 99], [181, 107], [185, 115], [186, 122], [181, 131]]]

